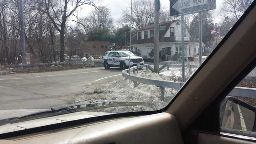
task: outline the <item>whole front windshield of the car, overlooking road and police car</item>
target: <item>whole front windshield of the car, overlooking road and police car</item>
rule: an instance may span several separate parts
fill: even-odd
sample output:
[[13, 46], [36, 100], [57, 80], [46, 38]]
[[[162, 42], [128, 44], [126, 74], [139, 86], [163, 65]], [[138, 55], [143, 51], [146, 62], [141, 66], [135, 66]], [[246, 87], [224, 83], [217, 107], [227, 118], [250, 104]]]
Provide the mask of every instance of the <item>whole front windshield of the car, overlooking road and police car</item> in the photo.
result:
[[253, 2], [50, 1], [0, 2], [0, 133], [166, 107]]

